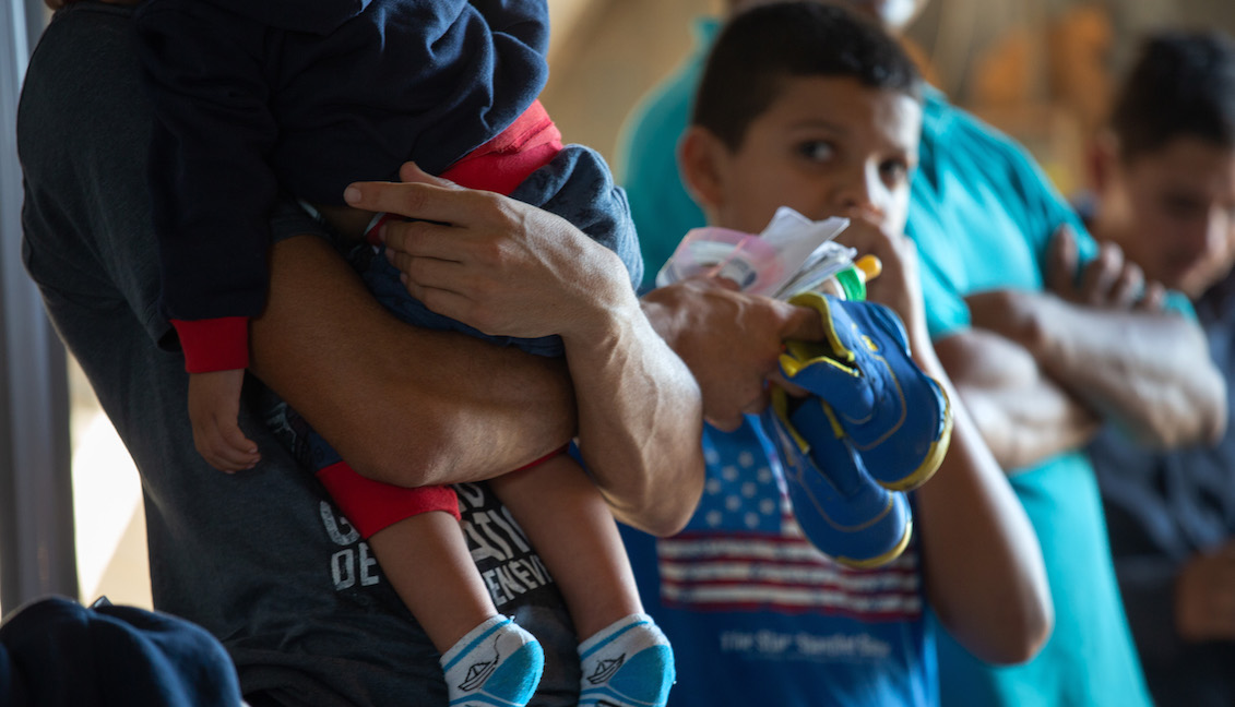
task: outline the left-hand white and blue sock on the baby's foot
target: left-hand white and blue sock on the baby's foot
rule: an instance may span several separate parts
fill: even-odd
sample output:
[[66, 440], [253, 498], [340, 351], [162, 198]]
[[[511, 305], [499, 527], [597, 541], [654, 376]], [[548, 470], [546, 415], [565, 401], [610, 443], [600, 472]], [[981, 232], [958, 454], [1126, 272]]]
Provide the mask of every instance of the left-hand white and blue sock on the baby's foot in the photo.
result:
[[485, 619], [441, 660], [451, 707], [525, 707], [545, 671], [536, 638], [504, 616]]

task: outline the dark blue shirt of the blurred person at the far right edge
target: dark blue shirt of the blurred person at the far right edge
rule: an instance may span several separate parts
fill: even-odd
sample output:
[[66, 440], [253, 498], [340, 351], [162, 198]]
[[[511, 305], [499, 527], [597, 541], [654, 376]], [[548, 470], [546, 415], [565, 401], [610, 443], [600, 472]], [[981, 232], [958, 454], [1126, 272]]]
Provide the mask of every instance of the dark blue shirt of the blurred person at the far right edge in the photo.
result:
[[[1195, 302], [1209, 353], [1235, 381], [1235, 276]], [[1235, 418], [1228, 396], [1228, 418]], [[1155, 701], [1235, 705], [1235, 643], [1187, 644], [1174, 627], [1183, 564], [1235, 537], [1235, 427], [1214, 447], [1152, 453], [1105, 431], [1089, 448], [1128, 621]]]

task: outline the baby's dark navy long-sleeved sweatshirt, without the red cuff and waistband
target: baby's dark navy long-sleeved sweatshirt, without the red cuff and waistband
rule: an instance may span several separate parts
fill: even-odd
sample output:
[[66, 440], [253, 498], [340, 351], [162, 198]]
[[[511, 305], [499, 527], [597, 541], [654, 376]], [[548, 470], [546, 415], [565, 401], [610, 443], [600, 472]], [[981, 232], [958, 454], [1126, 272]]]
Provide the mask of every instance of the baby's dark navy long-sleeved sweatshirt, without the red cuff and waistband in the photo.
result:
[[135, 15], [156, 131], [163, 304], [257, 315], [282, 188], [342, 204], [414, 159], [440, 173], [548, 74], [543, 1], [149, 0]]

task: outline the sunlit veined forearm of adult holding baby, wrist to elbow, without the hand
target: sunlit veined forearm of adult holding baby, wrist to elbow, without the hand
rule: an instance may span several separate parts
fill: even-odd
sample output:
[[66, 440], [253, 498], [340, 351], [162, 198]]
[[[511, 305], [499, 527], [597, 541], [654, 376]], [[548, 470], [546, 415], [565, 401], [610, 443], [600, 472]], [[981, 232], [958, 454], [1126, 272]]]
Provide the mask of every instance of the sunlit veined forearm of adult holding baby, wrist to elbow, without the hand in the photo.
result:
[[699, 386], [634, 292], [608, 302], [595, 329], [563, 336], [579, 450], [618, 519], [673, 534], [703, 494]]

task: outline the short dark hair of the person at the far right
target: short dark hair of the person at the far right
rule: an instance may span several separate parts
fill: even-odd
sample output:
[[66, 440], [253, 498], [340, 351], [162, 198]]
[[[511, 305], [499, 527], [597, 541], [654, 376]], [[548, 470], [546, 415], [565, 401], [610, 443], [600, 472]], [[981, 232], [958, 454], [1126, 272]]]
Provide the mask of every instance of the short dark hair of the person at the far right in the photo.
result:
[[1235, 41], [1218, 31], [1149, 37], [1110, 120], [1130, 162], [1177, 137], [1235, 147]]

